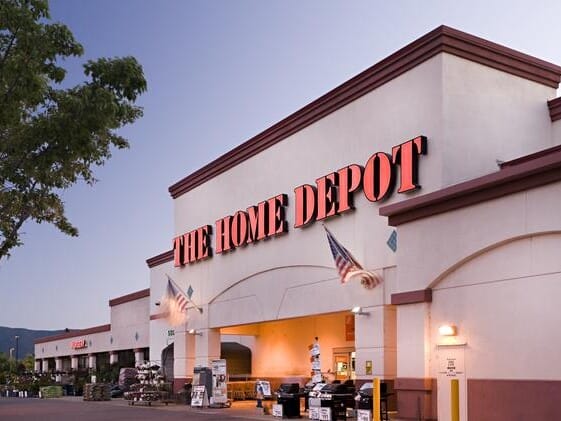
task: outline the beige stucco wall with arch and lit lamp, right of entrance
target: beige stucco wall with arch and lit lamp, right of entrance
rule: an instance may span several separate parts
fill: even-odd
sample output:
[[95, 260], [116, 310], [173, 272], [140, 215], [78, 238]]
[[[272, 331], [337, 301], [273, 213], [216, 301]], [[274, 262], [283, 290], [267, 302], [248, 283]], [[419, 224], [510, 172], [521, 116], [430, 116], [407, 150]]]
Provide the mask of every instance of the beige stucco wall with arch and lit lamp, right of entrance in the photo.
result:
[[433, 288], [431, 304], [398, 308], [399, 377], [436, 376], [437, 329], [452, 322], [467, 342], [468, 377], [561, 379], [550, 364], [561, 322], [559, 206], [555, 183], [399, 227], [400, 288]]

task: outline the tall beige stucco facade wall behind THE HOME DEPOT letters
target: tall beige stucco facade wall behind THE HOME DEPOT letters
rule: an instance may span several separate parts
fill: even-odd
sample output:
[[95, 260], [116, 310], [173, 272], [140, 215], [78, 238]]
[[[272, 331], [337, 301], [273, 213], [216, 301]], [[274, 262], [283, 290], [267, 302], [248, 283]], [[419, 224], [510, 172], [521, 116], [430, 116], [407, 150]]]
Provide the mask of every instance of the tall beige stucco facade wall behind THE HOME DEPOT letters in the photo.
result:
[[[419, 134], [428, 137], [429, 151], [420, 158], [419, 194], [493, 172], [496, 160], [551, 146], [543, 104], [554, 95], [552, 88], [439, 54], [175, 199], [179, 235], [287, 193], [290, 232], [174, 269], [174, 279], [185, 288], [192, 284], [198, 302], [211, 303], [202, 321], [209, 327], [342, 311], [351, 302], [383, 304], [388, 294], [337, 288], [321, 225], [292, 228], [293, 189]], [[394, 194], [386, 203], [409, 197]], [[360, 192], [355, 204], [355, 212], [327, 224], [359, 261], [382, 274], [397, 263], [386, 245], [391, 228], [378, 216], [378, 204]], [[330, 300], [334, 293], [341, 299]], [[312, 295], [316, 299], [307, 300]]]

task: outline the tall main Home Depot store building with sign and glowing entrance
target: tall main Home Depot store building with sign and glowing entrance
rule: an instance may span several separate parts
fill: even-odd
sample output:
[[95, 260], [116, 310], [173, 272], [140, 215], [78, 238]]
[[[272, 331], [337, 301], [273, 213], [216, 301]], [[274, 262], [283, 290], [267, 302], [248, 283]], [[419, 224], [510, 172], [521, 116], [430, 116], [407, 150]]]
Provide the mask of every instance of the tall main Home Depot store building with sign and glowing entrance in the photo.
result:
[[[176, 385], [226, 335], [253, 377], [305, 379], [317, 336], [324, 373], [393, 381], [401, 418], [449, 419], [451, 378], [461, 419], [560, 418], [560, 76], [440, 27], [171, 186], [151, 358], [170, 275], [202, 308], [175, 331]], [[322, 223], [380, 285], [340, 284]]]

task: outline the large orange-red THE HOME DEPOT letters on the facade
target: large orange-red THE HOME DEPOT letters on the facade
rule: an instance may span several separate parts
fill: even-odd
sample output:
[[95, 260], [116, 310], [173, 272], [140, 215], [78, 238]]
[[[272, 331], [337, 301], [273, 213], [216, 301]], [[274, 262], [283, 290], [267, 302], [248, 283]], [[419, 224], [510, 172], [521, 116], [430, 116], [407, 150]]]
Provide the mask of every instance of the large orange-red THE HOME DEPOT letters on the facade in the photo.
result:
[[[354, 194], [370, 202], [387, 199], [399, 175], [398, 193], [420, 188], [419, 156], [427, 153], [427, 138], [418, 136], [392, 148], [391, 154], [374, 153], [364, 164], [350, 164], [318, 178], [315, 184], [294, 189], [294, 228], [302, 228], [354, 209]], [[288, 195], [279, 194], [245, 210], [224, 216], [214, 224], [217, 254], [288, 232]], [[212, 257], [212, 225], [204, 225], [173, 239], [174, 265], [183, 266]]]

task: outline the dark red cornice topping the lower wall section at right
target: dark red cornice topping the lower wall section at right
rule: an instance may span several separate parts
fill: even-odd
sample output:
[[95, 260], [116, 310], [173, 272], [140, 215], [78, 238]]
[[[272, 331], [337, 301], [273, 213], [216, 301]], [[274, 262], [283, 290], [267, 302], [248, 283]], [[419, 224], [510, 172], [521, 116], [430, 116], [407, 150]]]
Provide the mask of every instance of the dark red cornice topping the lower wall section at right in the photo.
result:
[[[553, 152], [551, 152], [553, 150]], [[517, 165], [505, 166], [498, 172], [456, 184], [423, 196], [383, 206], [382, 216], [392, 226], [449, 212], [512, 193], [561, 181], [561, 149], [551, 148], [544, 156]]]

